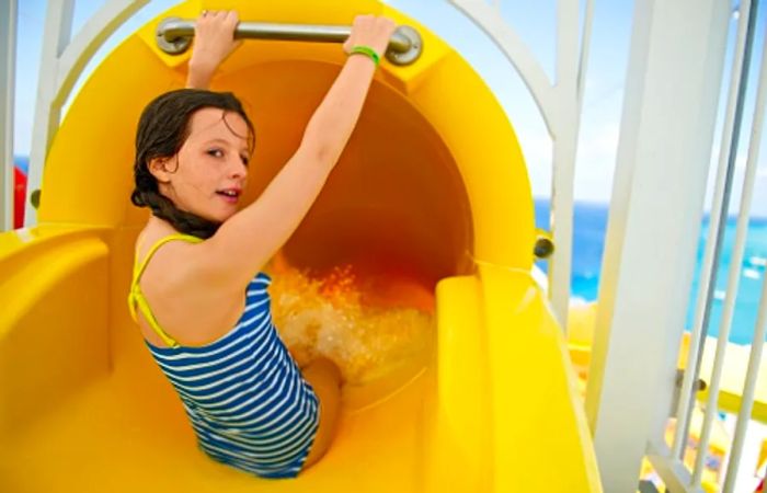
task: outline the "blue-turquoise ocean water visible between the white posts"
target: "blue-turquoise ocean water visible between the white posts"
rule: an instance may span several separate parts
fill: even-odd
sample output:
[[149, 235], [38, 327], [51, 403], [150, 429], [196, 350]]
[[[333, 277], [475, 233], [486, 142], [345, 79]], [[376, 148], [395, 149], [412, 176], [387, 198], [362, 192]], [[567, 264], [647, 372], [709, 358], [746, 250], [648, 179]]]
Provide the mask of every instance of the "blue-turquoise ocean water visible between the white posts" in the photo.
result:
[[[537, 227], [548, 229], [549, 203], [545, 199], [536, 200]], [[586, 301], [597, 299], [599, 287], [599, 268], [602, 266], [602, 253], [604, 250], [605, 232], [607, 230], [607, 204], [576, 203], [574, 207], [574, 238], [572, 263], [572, 296]], [[730, 273], [733, 244], [735, 241], [735, 228], [737, 218], [730, 217], [724, 231], [724, 245], [717, 273], [717, 288], [708, 325], [708, 334], [717, 335], [721, 322], [724, 296]], [[695, 302], [698, 296], [698, 280], [700, 265], [703, 259], [706, 238], [709, 230], [709, 217], [702, 219], [700, 238], [698, 241], [698, 259], [695, 279], [690, 289], [690, 303], [687, 310], [686, 328], [692, 326], [695, 318]], [[545, 263], [539, 263], [546, 270]], [[762, 283], [766, 275], [767, 265], [767, 218], [752, 218], [748, 225], [746, 249], [743, 255], [743, 264], [739, 266], [741, 279], [735, 313], [730, 330], [730, 342], [737, 344], [751, 344], [756, 324], [756, 313], [762, 294]]]

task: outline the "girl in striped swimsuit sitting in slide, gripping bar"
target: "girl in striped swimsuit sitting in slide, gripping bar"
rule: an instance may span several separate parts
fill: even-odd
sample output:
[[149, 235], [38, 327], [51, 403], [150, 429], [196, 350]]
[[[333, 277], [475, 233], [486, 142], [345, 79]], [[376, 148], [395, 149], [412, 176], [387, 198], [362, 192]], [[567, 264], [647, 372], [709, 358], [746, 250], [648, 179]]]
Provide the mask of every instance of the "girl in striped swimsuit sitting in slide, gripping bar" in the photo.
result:
[[[136, 244], [129, 305], [211, 458], [264, 478], [293, 478], [328, 449], [340, 374], [328, 359], [299, 369], [272, 324], [261, 268], [288, 240], [358, 119], [394, 23], [360, 15], [348, 58], [296, 152], [240, 208], [254, 133], [231, 93], [207, 91], [237, 46], [234, 12], [203, 12], [188, 88], [145, 108], [131, 200], [151, 216]], [[371, 53], [373, 51], [373, 53]]]

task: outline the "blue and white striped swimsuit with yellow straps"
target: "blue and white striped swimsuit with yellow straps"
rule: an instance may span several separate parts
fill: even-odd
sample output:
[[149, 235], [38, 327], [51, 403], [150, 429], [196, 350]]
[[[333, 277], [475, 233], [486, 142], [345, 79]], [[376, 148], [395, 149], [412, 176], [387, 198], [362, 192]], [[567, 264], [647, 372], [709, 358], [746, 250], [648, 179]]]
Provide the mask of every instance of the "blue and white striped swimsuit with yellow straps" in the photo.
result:
[[[134, 275], [135, 287], [142, 271]], [[319, 401], [272, 323], [270, 283], [264, 273], [250, 282], [240, 320], [217, 341], [147, 345], [181, 397], [203, 451], [262, 478], [295, 478], [317, 434]], [[131, 311], [136, 291], [142, 297], [135, 287]]]

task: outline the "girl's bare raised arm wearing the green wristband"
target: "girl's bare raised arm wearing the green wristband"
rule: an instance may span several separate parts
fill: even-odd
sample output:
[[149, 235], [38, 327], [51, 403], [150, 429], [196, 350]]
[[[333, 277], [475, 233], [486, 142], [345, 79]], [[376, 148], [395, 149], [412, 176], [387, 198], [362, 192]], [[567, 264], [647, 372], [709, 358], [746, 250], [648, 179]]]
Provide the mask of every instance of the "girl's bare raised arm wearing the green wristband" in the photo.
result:
[[259, 199], [199, 245], [207, 275], [228, 286], [247, 284], [298, 228], [357, 124], [376, 70], [373, 57], [353, 48], [369, 47], [381, 56], [394, 27], [382, 16], [355, 19], [344, 44], [350, 56], [310, 118], [298, 150]]

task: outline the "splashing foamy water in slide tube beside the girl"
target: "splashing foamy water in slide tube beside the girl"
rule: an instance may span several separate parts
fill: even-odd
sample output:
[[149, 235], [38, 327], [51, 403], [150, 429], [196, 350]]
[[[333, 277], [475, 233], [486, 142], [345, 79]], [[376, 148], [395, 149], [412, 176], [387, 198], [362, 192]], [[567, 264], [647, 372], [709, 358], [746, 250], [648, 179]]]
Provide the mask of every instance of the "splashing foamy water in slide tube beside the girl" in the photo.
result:
[[430, 313], [364, 303], [351, 268], [313, 279], [288, 267], [274, 275], [270, 294], [275, 325], [296, 362], [328, 357], [350, 383], [420, 357], [434, 337]]

